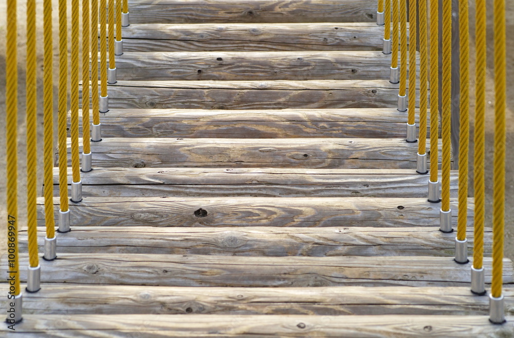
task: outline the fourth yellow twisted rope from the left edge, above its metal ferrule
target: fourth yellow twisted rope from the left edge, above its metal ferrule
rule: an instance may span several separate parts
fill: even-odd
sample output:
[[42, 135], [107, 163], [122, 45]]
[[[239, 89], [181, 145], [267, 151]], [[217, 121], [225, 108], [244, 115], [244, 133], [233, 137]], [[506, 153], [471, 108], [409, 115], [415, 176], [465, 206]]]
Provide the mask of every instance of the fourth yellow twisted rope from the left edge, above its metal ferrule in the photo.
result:
[[68, 154], [66, 100], [68, 95], [68, 27], [66, 0], [59, 0], [59, 195], [61, 211], [68, 211]]

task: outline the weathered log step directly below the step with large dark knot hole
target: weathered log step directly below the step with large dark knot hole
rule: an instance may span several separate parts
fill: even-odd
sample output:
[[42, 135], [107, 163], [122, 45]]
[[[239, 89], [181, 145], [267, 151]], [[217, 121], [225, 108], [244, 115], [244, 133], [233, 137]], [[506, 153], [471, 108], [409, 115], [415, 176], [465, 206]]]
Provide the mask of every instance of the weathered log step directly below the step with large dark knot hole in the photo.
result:
[[[473, 232], [467, 234], [469, 246]], [[39, 236], [43, 252], [44, 231]], [[19, 245], [27, 252], [27, 233]], [[490, 254], [492, 233], [485, 233]], [[149, 228], [74, 226], [57, 251], [72, 254], [180, 254], [229, 256], [442, 256], [455, 251], [455, 234], [438, 228]]]

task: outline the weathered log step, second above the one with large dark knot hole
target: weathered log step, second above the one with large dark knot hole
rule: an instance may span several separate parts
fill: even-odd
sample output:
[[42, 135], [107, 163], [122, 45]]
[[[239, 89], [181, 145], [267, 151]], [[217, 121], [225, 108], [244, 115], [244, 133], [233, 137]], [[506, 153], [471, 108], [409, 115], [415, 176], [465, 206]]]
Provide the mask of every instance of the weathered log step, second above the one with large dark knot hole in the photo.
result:
[[[69, 138], [67, 143], [71, 165]], [[93, 167], [104, 168], [415, 169], [418, 149], [403, 139], [375, 138], [112, 137], [91, 147]]]

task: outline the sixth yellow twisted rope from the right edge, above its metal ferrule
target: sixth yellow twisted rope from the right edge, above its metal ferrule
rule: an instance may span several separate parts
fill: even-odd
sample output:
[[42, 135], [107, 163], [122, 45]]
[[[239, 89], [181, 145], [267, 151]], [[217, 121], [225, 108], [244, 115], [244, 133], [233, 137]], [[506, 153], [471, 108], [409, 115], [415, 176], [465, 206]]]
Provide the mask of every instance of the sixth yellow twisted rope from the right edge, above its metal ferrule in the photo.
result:
[[[412, 5], [411, 7], [412, 8]], [[415, 6], [414, 6], [415, 8]], [[415, 17], [414, 20], [416, 21]], [[409, 21], [410, 24], [410, 37], [411, 37], [411, 47], [415, 46], [412, 42], [413, 32], [412, 32], [412, 21]], [[416, 34], [414, 33], [414, 37]], [[419, 2], [419, 137], [418, 137], [418, 153], [420, 155], [424, 155], [426, 153], [427, 148], [427, 96], [428, 96], [428, 88], [427, 88], [427, 68], [428, 68], [428, 60], [427, 60], [427, 3], [425, 1]], [[410, 92], [409, 92], [410, 94]], [[415, 95], [415, 94], [414, 94]], [[409, 100], [409, 112], [411, 112], [411, 104], [415, 106], [415, 101], [411, 102]]]

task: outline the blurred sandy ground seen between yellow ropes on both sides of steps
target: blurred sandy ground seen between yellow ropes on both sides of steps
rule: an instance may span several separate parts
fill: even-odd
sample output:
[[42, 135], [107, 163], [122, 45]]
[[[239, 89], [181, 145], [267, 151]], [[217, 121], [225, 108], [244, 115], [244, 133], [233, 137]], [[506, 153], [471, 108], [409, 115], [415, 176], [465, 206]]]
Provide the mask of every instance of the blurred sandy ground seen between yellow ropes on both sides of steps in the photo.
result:
[[[58, 2], [57, 0], [52, 0], [53, 2], [53, 21], [54, 21], [54, 45], [57, 45], [58, 42], [58, 33], [57, 33], [57, 24], [58, 24], [58, 15], [57, 15], [57, 8], [58, 8]], [[43, 80], [43, 66], [42, 66], [42, 50], [43, 50], [43, 36], [42, 36], [42, 0], [36, 0], [37, 6], [38, 6], [38, 52], [40, 53], [38, 55], [38, 85], [41, 88], [42, 80]], [[488, 9], [492, 8], [492, 0], [488, 0]], [[26, 172], [26, 166], [25, 166], [25, 109], [24, 109], [24, 95], [25, 95], [25, 2], [19, 1], [19, 14], [17, 16], [18, 18], [18, 25], [19, 25], [19, 60], [18, 60], [18, 69], [19, 69], [19, 175], [20, 175], [20, 186], [19, 186], [19, 225], [22, 227], [25, 227], [26, 224], [24, 220], [25, 217], [25, 209], [26, 209], [26, 203], [25, 203], [25, 191], [26, 191], [26, 180], [25, 180], [25, 172]], [[514, 259], [514, 86], [512, 85], [512, 81], [514, 80], [514, 0], [506, 0], [506, 8], [507, 8], [507, 181], [506, 181], [506, 245], [505, 245], [505, 253], [507, 257], [510, 257], [511, 259]], [[69, 7], [68, 7], [69, 12]], [[5, 77], [3, 74], [3, 69], [5, 69], [5, 25], [6, 25], [6, 1], [1, 0], [0, 1], [0, 219], [5, 220], [7, 218], [7, 212], [6, 212], [6, 167], [5, 167], [5, 133], [4, 130], [6, 128], [5, 126]], [[68, 14], [69, 15], [69, 14]], [[489, 10], [488, 12], [488, 67], [487, 67], [487, 86], [488, 86], [488, 92], [487, 92], [487, 126], [486, 126], [486, 133], [487, 133], [487, 151], [486, 151], [486, 188], [487, 188], [487, 219], [486, 219], [486, 225], [491, 225], [491, 196], [492, 196], [492, 169], [491, 169], [491, 163], [492, 163], [492, 139], [493, 139], [493, 107], [494, 107], [494, 94], [493, 94], [493, 59], [492, 59], [492, 11]], [[474, 2], [470, 2], [470, 26], [474, 27]], [[69, 27], [68, 27], [69, 29]], [[470, 35], [471, 39], [471, 45], [470, 45], [470, 51], [471, 51], [471, 63], [474, 62], [474, 32], [471, 31]], [[57, 57], [58, 57], [58, 49], [54, 48], [54, 83], [57, 85]], [[473, 67], [471, 67], [473, 70]], [[471, 115], [473, 115], [474, 112], [474, 95], [473, 95], [473, 84], [474, 84], [474, 73], [471, 72], [470, 74], [471, 79], [471, 95], [470, 98], [471, 102]], [[57, 94], [56, 88], [54, 88], [54, 94]], [[38, 121], [38, 147], [39, 152], [42, 154], [42, 138], [43, 138], [43, 98], [42, 98], [42, 91], [40, 90], [38, 92], [38, 114], [39, 114], [39, 121]], [[57, 98], [54, 101], [54, 111], [57, 112]], [[471, 118], [472, 120], [472, 118]], [[56, 119], [56, 126], [57, 126], [57, 119]], [[471, 124], [471, 136], [473, 135], [473, 125]], [[472, 138], [471, 138], [472, 140]], [[56, 142], [57, 144], [57, 142]], [[471, 152], [470, 152], [470, 163], [472, 163], [472, 146], [471, 146]], [[41, 169], [40, 173], [38, 175], [38, 186], [42, 186], [42, 168], [43, 163], [41, 157], [38, 159], [38, 166]], [[470, 170], [470, 177], [472, 178], [472, 171]], [[470, 196], [473, 195], [473, 189], [472, 189], [472, 182], [470, 182]], [[6, 229], [6, 222], [2, 222], [0, 224], [0, 249], [5, 250], [5, 229]]]

